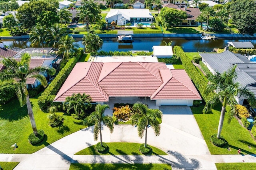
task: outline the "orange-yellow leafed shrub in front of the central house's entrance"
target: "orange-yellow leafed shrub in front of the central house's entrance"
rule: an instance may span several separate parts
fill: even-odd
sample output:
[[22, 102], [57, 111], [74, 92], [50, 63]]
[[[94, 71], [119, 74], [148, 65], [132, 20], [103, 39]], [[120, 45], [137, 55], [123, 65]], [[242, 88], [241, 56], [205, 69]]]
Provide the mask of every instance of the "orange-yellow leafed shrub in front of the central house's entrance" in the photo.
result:
[[132, 108], [130, 108], [129, 105], [114, 107], [113, 110], [113, 116], [117, 119], [122, 119], [124, 121], [128, 120], [129, 117], [132, 115]]

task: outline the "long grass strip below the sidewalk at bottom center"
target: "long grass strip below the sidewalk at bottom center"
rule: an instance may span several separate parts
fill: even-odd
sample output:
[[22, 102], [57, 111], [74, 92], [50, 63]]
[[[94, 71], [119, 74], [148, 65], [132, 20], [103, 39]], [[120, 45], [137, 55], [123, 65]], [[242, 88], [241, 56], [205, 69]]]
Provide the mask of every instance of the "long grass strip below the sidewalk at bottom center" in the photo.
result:
[[171, 170], [170, 164], [71, 164], [70, 170]]

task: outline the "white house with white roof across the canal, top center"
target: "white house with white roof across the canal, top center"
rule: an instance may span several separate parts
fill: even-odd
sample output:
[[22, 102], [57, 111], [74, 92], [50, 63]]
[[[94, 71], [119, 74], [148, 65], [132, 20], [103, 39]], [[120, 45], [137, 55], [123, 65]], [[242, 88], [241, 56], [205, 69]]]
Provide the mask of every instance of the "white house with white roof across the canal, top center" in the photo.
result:
[[126, 25], [127, 22], [152, 22], [153, 16], [148, 9], [110, 9], [105, 17], [106, 22], [116, 22], [118, 26]]

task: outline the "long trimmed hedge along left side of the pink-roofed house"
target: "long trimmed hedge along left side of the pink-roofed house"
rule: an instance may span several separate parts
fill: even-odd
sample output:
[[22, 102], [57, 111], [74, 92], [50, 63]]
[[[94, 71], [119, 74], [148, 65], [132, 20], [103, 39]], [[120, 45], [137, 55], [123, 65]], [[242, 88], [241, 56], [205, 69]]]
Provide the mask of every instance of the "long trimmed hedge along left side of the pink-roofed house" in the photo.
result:
[[66, 65], [63, 67], [63, 69], [58, 73], [58, 75], [55, 77], [55, 79], [48, 85], [48, 87], [44, 90], [42, 95], [38, 97], [38, 105], [40, 109], [45, 110], [47, 109], [51, 104], [53, 99], [55, 98], [55, 95], [57, 94], [58, 90], [62, 86], [62, 84], [66, 81], [68, 75], [80, 59], [83, 48], [79, 48], [79, 53], [77, 57], [70, 58]]

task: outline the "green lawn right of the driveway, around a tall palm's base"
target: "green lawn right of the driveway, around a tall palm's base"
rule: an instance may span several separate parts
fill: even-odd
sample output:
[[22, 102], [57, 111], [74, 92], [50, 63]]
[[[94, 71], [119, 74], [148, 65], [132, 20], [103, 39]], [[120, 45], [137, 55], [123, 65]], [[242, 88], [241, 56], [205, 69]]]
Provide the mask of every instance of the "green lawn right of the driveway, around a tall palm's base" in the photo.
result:
[[[242, 127], [235, 118], [228, 124], [227, 113], [221, 135], [228, 141], [228, 146], [217, 147], [210, 142], [211, 135], [217, 133], [218, 130], [221, 105], [216, 106], [212, 109], [212, 113], [208, 114], [202, 114], [203, 106], [191, 107], [191, 109], [211, 154], [237, 154], [238, 149], [241, 149], [242, 154], [256, 154], [256, 142], [248, 130]], [[227, 107], [227, 109], [229, 108]], [[228, 147], [230, 151], [228, 151]]]

